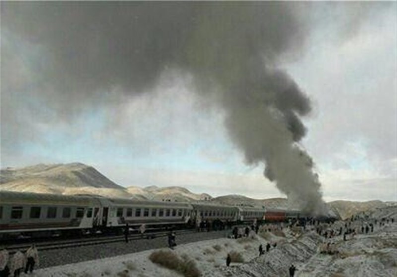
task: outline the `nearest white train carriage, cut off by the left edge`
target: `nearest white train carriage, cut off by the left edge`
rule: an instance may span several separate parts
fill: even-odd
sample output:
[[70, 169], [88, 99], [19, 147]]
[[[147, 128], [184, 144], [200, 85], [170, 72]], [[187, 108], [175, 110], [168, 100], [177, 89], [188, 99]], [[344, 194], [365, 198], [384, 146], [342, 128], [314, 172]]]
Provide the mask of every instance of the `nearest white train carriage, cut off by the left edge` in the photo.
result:
[[90, 229], [99, 206], [94, 197], [1, 191], [0, 237]]

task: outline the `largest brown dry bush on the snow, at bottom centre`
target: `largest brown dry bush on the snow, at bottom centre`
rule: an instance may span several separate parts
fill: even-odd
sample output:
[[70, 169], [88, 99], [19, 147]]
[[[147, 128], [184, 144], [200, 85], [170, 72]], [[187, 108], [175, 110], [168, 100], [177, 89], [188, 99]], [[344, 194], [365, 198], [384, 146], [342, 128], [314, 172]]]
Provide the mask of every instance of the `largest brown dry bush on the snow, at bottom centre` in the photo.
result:
[[171, 251], [154, 251], [149, 256], [150, 261], [159, 264], [167, 269], [175, 270], [185, 277], [200, 277], [201, 272], [196, 267], [195, 261], [190, 259], [187, 255], [181, 258]]

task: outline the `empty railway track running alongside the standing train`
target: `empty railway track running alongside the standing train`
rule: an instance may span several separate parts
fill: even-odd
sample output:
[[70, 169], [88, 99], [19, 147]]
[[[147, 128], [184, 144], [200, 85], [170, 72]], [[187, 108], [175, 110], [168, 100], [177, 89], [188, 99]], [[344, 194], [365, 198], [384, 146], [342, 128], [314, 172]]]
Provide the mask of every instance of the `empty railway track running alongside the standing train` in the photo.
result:
[[[176, 235], [183, 234], [192, 234], [196, 233], [196, 230], [188, 229], [188, 230], [178, 230], [174, 231]], [[161, 232], [153, 232], [147, 234], [131, 234], [128, 239], [131, 240], [142, 240], [142, 239], [154, 239], [159, 237], [168, 236], [169, 231], [161, 231]], [[35, 243], [37, 249], [39, 251], [45, 250], [53, 250], [53, 249], [62, 249], [62, 248], [72, 248], [72, 247], [82, 247], [88, 245], [96, 245], [96, 244], [105, 244], [105, 243], [114, 243], [114, 242], [122, 242], [124, 241], [124, 235], [112, 236], [112, 237], [94, 237], [94, 238], [83, 238], [83, 239], [69, 239], [69, 240], [53, 240], [47, 242], [37, 242]], [[0, 245], [0, 249], [6, 247], [10, 254], [13, 254], [17, 251], [25, 251], [31, 246], [31, 243], [22, 243], [15, 245]]]

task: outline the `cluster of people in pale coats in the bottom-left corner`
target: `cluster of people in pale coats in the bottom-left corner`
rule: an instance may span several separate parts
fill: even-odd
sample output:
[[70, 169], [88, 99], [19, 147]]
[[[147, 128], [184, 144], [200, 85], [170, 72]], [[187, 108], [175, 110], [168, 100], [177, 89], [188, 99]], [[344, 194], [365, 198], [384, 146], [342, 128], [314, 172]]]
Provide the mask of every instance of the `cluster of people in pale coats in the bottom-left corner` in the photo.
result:
[[18, 277], [22, 271], [32, 273], [35, 265], [39, 265], [39, 253], [34, 244], [25, 253], [17, 251], [11, 257], [6, 248], [0, 251], [0, 277]]

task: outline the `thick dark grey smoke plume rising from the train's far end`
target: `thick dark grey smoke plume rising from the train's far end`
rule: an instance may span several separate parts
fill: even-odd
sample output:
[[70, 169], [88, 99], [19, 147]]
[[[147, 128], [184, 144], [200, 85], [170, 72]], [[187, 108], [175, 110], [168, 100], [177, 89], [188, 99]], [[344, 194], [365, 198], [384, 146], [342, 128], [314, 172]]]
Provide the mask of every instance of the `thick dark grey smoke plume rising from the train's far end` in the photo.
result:
[[[297, 144], [306, 133], [300, 116], [310, 112], [310, 101], [277, 67], [304, 46], [308, 24], [300, 11], [306, 7], [282, 2], [2, 2], [1, 60], [5, 67], [14, 66], [16, 42], [38, 49], [41, 64], [32, 64], [31, 70], [40, 86], [29, 85], [29, 93], [41, 97], [60, 120], [104, 104], [105, 92], [120, 98], [146, 93], [167, 68], [189, 72], [195, 92], [214, 96], [214, 104], [224, 109], [228, 134], [246, 163], [263, 164], [265, 176], [292, 202], [321, 213], [313, 162]], [[14, 85], [7, 80], [15, 76], [7, 74], [2, 73], [1, 91], [11, 93]], [[14, 111], [5, 104], [1, 110], [12, 120]]]

